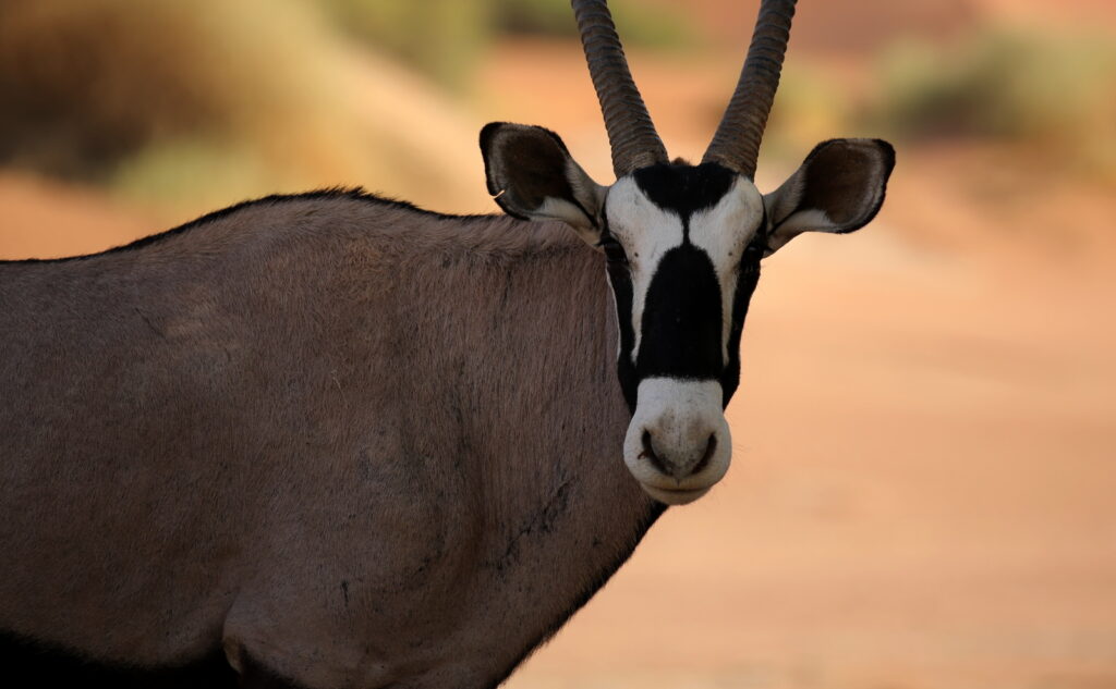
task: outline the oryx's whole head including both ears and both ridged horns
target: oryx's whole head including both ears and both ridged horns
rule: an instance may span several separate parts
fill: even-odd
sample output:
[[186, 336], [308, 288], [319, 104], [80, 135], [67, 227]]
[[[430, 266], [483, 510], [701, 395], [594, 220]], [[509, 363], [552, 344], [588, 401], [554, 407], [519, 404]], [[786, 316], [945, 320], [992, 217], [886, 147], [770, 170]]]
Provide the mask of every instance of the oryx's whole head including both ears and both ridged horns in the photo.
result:
[[617, 372], [632, 410], [624, 460], [653, 497], [687, 503], [729, 468], [723, 409], [740, 378], [740, 332], [760, 260], [802, 232], [852, 232], [870, 221], [895, 155], [882, 140], [828, 140], [782, 186], [760, 194], [756, 161], [795, 12], [795, 0], [763, 0], [702, 163], [672, 163], [605, 0], [573, 4], [616, 182], [594, 182], [552, 132], [492, 123], [481, 132], [489, 192], [508, 213], [564, 221], [604, 253]]

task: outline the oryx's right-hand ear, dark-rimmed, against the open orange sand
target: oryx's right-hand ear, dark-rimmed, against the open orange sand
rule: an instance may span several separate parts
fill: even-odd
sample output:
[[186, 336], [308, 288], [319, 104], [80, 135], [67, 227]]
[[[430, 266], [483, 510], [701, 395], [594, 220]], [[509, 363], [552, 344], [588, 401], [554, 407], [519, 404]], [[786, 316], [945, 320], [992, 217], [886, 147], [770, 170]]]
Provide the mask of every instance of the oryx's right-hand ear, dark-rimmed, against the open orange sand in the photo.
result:
[[874, 138], [836, 138], [818, 144], [782, 186], [763, 196], [768, 251], [802, 232], [859, 230], [884, 204], [895, 148]]

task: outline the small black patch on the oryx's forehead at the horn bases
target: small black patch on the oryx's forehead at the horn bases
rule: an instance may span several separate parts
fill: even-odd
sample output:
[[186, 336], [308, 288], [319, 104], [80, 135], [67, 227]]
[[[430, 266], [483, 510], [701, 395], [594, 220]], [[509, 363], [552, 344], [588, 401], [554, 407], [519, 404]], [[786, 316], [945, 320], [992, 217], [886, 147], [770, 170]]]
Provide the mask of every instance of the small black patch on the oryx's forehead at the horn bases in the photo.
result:
[[715, 206], [729, 193], [737, 173], [716, 163], [662, 164], [637, 169], [632, 176], [652, 203], [686, 219]]

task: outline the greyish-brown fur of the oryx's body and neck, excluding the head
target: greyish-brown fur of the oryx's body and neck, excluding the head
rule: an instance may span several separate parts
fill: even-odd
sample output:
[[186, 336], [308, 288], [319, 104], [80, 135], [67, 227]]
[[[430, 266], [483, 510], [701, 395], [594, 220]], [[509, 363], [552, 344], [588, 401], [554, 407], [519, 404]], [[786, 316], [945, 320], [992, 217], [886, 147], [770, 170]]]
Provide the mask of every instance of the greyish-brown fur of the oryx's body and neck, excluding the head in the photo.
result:
[[0, 629], [494, 686], [657, 514], [615, 337], [568, 229], [352, 196], [0, 264]]

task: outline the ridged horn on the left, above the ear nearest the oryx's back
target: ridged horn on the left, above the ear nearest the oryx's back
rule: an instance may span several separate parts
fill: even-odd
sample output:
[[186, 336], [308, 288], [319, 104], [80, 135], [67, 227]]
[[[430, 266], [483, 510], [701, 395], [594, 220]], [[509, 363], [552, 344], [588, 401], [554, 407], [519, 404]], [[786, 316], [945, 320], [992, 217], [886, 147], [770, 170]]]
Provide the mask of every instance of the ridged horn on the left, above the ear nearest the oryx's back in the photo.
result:
[[639, 167], [665, 163], [666, 148], [632, 80], [608, 3], [605, 0], [571, 0], [570, 4], [605, 116], [608, 144], [613, 149], [613, 171], [622, 177]]

